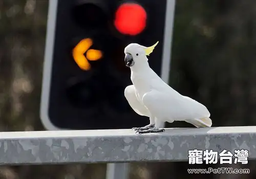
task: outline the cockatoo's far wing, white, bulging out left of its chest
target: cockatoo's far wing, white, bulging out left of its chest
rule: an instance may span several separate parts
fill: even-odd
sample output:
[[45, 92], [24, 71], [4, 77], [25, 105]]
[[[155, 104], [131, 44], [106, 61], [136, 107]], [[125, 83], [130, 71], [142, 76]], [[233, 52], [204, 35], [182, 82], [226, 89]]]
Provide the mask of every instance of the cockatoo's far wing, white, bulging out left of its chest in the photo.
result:
[[148, 113], [147, 108], [138, 101], [136, 94], [135, 94], [135, 87], [134, 85], [129, 85], [124, 89], [124, 96], [133, 110], [141, 116], [149, 117], [150, 114]]

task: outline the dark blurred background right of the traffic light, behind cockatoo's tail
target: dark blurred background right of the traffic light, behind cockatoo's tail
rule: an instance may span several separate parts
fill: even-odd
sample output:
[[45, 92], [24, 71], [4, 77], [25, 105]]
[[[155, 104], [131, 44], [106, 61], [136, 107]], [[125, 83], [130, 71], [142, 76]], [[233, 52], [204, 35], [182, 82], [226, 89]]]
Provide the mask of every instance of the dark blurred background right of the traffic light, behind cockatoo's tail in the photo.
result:
[[[177, 1], [170, 84], [205, 104], [212, 126], [255, 125], [255, 1]], [[168, 124], [168, 127], [191, 127]], [[242, 145], [242, 144], [239, 144]], [[154, 164], [152, 178], [251, 178], [251, 174], [188, 174], [187, 168], [223, 165]], [[227, 166], [228, 167], [228, 166]], [[167, 176], [168, 173], [168, 176]], [[167, 176], [167, 177], [166, 177]]]

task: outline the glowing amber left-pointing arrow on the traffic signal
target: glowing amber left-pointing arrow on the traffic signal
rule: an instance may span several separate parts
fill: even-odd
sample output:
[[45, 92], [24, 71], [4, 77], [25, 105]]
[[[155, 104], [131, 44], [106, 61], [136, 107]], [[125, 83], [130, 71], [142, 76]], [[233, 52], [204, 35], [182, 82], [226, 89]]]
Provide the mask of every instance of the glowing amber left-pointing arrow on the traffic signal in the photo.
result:
[[[96, 61], [102, 57], [102, 52], [100, 50], [88, 50], [92, 44], [93, 40], [91, 38], [85, 38], [82, 39], [73, 49], [73, 58], [82, 70], [87, 71], [91, 69], [91, 64], [88, 60]], [[86, 57], [84, 56], [84, 53], [86, 53]]]

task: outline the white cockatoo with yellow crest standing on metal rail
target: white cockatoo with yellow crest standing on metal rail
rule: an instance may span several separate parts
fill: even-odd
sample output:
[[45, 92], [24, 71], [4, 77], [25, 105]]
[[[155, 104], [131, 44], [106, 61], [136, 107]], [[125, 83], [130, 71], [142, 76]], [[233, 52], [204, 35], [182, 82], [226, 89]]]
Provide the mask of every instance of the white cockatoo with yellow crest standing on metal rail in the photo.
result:
[[210, 113], [203, 104], [179, 94], [150, 68], [146, 56], [157, 43], [151, 47], [131, 43], [124, 49], [124, 62], [131, 69], [133, 82], [125, 88], [124, 96], [137, 114], [150, 118], [150, 124], [133, 129], [138, 133], [163, 132], [161, 124], [174, 121], [210, 127]]

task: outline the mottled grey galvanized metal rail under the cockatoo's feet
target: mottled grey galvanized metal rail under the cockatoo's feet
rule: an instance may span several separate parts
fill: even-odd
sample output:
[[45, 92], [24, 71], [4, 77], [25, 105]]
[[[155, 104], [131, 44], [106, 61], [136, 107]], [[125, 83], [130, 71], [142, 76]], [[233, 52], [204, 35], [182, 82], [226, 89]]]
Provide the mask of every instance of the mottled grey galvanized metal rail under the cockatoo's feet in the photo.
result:
[[256, 126], [0, 133], [1, 165], [186, 161], [188, 150], [249, 150], [256, 159]]

